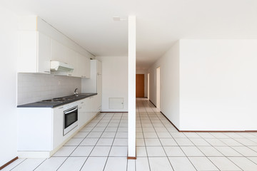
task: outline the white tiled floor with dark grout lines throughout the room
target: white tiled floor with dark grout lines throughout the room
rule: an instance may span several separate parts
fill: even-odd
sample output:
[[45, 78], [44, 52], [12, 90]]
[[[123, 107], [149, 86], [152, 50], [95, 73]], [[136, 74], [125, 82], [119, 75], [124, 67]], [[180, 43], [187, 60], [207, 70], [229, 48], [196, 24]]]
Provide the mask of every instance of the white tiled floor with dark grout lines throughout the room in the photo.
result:
[[4, 170], [257, 170], [257, 133], [178, 133], [137, 99], [137, 160], [127, 160], [127, 113], [101, 113], [49, 159], [19, 159]]

